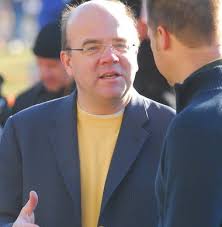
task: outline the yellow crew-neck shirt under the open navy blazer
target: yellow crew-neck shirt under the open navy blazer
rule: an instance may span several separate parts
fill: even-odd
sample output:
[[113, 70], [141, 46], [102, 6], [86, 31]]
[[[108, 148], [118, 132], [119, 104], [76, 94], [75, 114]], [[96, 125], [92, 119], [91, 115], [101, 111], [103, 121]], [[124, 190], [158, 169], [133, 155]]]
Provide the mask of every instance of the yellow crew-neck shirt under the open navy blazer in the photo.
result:
[[77, 107], [82, 226], [96, 227], [106, 176], [119, 134], [123, 111], [91, 115]]

